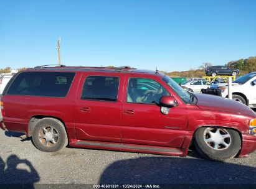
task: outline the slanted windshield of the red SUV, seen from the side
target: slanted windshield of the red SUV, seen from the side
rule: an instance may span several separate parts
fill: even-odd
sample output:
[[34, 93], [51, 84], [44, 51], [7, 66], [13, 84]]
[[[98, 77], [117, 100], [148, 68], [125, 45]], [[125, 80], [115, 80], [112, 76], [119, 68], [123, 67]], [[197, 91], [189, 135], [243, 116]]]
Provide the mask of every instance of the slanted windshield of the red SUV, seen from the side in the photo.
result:
[[191, 94], [187, 93], [187, 91], [179, 86], [178, 83], [169, 78], [169, 76], [164, 76], [163, 80], [183, 99], [185, 103], [191, 103]]

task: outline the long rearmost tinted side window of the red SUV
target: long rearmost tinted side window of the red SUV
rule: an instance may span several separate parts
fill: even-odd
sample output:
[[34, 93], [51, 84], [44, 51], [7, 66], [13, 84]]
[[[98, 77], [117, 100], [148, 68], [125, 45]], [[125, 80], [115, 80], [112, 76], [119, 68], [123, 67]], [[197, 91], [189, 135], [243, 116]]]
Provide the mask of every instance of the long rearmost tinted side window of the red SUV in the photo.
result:
[[24, 72], [16, 76], [7, 94], [65, 97], [75, 73]]

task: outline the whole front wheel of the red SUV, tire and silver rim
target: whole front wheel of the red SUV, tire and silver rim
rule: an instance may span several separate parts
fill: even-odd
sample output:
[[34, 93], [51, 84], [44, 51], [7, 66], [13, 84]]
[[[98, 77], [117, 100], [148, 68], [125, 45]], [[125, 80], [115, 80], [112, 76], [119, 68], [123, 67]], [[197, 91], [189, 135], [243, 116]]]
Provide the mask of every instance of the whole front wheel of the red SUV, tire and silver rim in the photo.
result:
[[194, 139], [197, 152], [211, 160], [235, 157], [241, 147], [239, 133], [223, 127], [200, 127]]

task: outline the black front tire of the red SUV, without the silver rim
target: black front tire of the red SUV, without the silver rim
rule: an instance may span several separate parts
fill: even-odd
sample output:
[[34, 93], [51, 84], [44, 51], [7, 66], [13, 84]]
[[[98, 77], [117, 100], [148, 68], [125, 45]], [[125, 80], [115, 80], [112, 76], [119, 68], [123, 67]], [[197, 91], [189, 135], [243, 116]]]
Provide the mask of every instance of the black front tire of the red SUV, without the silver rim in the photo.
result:
[[[229, 132], [231, 138], [230, 146], [227, 149], [216, 150], [209, 147], [209, 145], [207, 145], [204, 141], [204, 132], [207, 128], [214, 127], [200, 127], [199, 129], [197, 129], [194, 136], [194, 146], [197, 152], [202, 155], [202, 157], [210, 160], [224, 161], [235, 157], [235, 155], [238, 154], [241, 148], [241, 138], [239, 132], [233, 129], [225, 129], [227, 132]], [[224, 129], [221, 127], [219, 128]]]

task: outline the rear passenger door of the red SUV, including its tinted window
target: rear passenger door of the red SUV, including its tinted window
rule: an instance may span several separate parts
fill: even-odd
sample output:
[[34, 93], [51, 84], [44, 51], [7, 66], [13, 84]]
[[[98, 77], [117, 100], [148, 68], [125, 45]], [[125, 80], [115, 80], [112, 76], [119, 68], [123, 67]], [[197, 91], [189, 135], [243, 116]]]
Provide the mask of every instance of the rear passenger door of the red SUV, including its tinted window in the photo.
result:
[[[113, 78], [115, 77], [115, 78]], [[120, 142], [123, 75], [84, 74], [75, 105], [77, 139]], [[113, 84], [119, 79], [120, 86]], [[116, 81], [114, 81], [116, 80]], [[114, 91], [118, 91], [116, 96]]]

